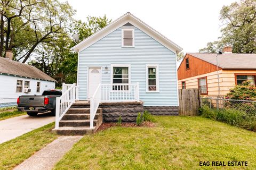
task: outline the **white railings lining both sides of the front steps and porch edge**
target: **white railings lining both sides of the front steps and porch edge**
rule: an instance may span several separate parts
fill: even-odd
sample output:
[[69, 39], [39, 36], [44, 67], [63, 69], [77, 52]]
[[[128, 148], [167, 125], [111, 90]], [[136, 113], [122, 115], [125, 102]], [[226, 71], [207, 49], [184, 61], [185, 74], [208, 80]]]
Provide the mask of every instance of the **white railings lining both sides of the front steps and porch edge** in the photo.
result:
[[[78, 87], [74, 84], [62, 84], [62, 96], [56, 98], [55, 129], [59, 128], [61, 118], [70, 106], [78, 99]], [[93, 120], [100, 103], [140, 101], [139, 83], [132, 84], [99, 84], [90, 98], [90, 128], [93, 129]]]

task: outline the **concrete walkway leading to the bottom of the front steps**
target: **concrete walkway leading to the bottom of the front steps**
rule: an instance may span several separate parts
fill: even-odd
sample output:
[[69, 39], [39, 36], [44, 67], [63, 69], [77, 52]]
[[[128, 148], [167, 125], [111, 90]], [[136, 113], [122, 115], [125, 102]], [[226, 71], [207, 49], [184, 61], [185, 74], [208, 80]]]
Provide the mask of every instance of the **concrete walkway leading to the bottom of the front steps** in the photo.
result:
[[15, 170], [47, 170], [68, 152], [83, 136], [61, 136], [15, 167]]

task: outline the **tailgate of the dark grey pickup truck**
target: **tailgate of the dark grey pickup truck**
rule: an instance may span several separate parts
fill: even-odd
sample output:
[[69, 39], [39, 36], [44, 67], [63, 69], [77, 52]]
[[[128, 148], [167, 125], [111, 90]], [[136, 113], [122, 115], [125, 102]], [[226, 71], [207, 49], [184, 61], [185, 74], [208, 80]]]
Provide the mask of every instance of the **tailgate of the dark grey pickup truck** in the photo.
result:
[[20, 96], [19, 107], [43, 107], [44, 96]]

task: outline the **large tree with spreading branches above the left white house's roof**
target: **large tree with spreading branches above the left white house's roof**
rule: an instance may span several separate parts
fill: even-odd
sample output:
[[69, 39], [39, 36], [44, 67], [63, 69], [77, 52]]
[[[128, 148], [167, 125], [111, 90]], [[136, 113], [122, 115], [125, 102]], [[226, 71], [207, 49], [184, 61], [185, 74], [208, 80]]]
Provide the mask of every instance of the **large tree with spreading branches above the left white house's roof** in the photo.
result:
[[[25, 63], [39, 44], [66, 36], [75, 11], [58, 0], [2, 0], [1, 44]], [[5, 47], [3, 45], [5, 40]]]

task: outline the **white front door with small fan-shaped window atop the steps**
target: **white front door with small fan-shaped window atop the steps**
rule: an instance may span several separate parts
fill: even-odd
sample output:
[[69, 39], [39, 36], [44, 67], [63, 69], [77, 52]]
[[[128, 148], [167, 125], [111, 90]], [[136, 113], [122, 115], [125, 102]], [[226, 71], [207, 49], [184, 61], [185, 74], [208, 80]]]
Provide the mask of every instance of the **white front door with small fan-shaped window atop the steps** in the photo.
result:
[[98, 85], [101, 82], [101, 68], [100, 67], [90, 67], [88, 74], [88, 95], [87, 98], [90, 99]]

